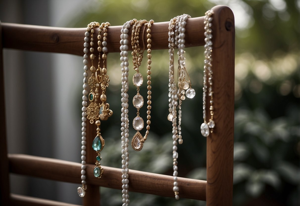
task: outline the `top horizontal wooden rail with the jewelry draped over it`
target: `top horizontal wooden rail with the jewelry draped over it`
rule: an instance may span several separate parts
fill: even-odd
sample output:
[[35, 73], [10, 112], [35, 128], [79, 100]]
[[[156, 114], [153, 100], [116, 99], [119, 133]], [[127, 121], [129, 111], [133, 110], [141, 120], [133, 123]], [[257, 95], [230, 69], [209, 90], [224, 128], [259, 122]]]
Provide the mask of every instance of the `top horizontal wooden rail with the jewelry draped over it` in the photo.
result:
[[[204, 18], [187, 20], [185, 32], [186, 47], [204, 45]], [[125, 23], [125, 22], [124, 22]], [[168, 49], [169, 22], [154, 23], [151, 27], [151, 49]], [[143, 27], [142, 27], [143, 28]], [[120, 35], [122, 26], [110, 26], [107, 36], [109, 52], [120, 52]], [[131, 29], [129, 38], [131, 39]], [[83, 56], [83, 38], [85, 28], [60, 28], [24, 24], [2, 23], [3, 47], [20, 50], [68, 53]], [[98, 28], [95, 29], [98, 34]], [[143, 32], [140, 32], [142, 37]], [[97, 45], [97, 38], [94, 38]], [[144, 34], [146, 41], [146, 32]], [[131, 50], [131, 47], [129, 47]]]

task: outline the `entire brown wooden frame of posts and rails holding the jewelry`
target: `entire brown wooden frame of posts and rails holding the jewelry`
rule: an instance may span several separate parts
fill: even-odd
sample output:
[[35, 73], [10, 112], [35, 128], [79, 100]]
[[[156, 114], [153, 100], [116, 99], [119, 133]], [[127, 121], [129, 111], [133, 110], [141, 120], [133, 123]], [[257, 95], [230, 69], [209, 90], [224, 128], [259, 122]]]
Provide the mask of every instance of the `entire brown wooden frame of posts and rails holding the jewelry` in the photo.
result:
[[[216, 128], [214, 133], [207, 138], [207, 181], [191, 180], [179, 178], [180, 196], [206, 200], [207, 205], [232, 205], [232, 177], [233, 177], [233, 129], [234, 129], [234, 17], [232, 11], [226, 6], [215, 6], [213, 18], [213, 69], [214, 69], [214, 120]], [[196, 17], [187, 20], [186, 26], [186, 47], [204, 45], [204, 17]], [[151, 27], [152, 49], [168, 49], [168, 24], [169, 22], [154, 23]], [[119, 41], [121, 26], [110, 26], [110, 41], [107, 47], [110, 52], [120, 52]], [[13, 48], [20, 50], [32, 50], [41, 52], [68, 53], [82, 56], [83, 54], [83, 34], [85, 28], [67, 29], [46, 26], [20, 25], [11, 23], [1, 23], [1, 48]], [[131, 33], [131, 32], [129, 32]], [[32, 38], [35, 37], [35, 38]], [[3, 80], [3, 55], [1, 49], [0, 57], [0, 78]], [[201, 52], [202, 53], [202, 52]], [[38, 175], [26, 170], [20, 170], [22, 165], [17, 162], [21, 158], [24, 162], [36, 165], [43, 161], [52, 162], [54, 167], [64, 170], [56, 172], [57, 174], [45, 175], [44, 178], [53, 180], [59, 179], [59, 176], [70, 168], [76, 171], [76, 179], [70, 182], [80, 183], [79, 163], [72, 163], [62, 160], [32, 157], [26, 155], [11, 154], [7, 155], [7, 139], [5, 127], [5, 102], [4, 102], [4, 83], [0, 86], [0, 115], [1, 115], [1, 144], [0, 144], [0, 201], [1, 203], [10, 202], [12, 205], [31, 205], [34, 198], [24, 198], [21, 195], [10, 195], [9, 172]], [[207, 106], [206, 108], [209, 108]], [[201, 118], [200, 118], [201, 119]], [[201, 122], [199, 122], [201, 124]], [[87, 144], [91, 144], [94, 138], [95, 128], [87, 128]], [[199, 131], [200, 133], [200, 131]], [[92, 135], [89, 135], [92, 134]], [[202, 136], [199, 134], [199, 138]], [[115, 176], [102, 177], [99, 181], [92, 175], [92, 164], [94, 164], [94, 152], [87, 147], [87, 183], [88, 191], [84, 198], [84, 205], [98, 205], [100, 201], [99, 186], [121, 189], [121, 169], [105, 167]], [[28, 164], [27, 164], [28, 166]], [[19, 167], [19, 168], [18, 168]], [[57, 170], [57, 169], [56, 169]], [[77, 172], [78, 171], [78, 172]], [[118, 172], [119, 171], [119, 172]], [[78, 175], [77, 175], [78, 174]], [[130, 191], [136, 191], [157, 194], [161, 196], [173, 197], [172, 176], [146, 173], [130, 170]], [[141, 176], [147, 177], [141, 181]], [[93, 178], [93, 179], [92, 179]], [[156, 178], [163, 184], [158, 188], [150, 186], [151, 180]], [[112, 179], [115, 181], [110, 182]], [[118, 180], [119, 179], [119, 180]], [[138, 181], [137, 181], [138, 180]], [[93, 183], [92, 183], [93, 182]], [[96, 182], [96, 183], [94, 183]], [[147, 188], [147, 190], [146, 190]], [[171, 188], [171, 189], [170, 189]], [[156, 191], [155, 191], [156, 190]], [[191, 192], [194, 190], [194, 192]], [[35, 201], [38, 201], [35, 199]], [[14, 204], [13, 204], [14, 203]], [[34, 204], [32, 204], [34, 205]], [[54, 201], [38, 201], [37, 205], [59, 205]], [[66, 204], [67, 205], [67, 204]], [[72, 205], [72, 204], [69, 204]]]

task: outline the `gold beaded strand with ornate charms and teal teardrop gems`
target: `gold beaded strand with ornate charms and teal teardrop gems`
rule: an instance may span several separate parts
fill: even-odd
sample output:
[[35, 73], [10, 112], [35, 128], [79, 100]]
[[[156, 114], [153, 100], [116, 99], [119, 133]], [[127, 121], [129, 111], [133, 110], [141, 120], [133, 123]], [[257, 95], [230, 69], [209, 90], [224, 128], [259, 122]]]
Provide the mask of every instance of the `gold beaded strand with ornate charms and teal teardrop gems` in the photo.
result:
[[[105, 59], [107, 58], [107, 28], [108, 26], [110, 26], [110, 23], [106, 22], [106, 23], [102, 23], [101, 26], [99, 26], [99, 34], [98, 34], [98, 51], [99, 51], [99, 62], [98, 62], [98, 69], [96, 71], [96, 80], [98, 83], [100, 83], [101, 86], [101, 90], [102, 90], [102, 94], [100, 96], [100, 100], [101, 100], [101, 104], [99, 103], [97, 108], [98, 108], [98, 117], [97, 119], [100, 120], [107, 120], [108, 117], [113, 115], [113, 111], [109, 109], [109, 104], [106, 103], [104, 104], [104, 102], [106, 101], [106, 95], [105, 95], [105, 91], [106, 88], [109, 85], [109, 75], [107, 75], [107, 68], [105, 67]], [[101, 49], [101, 32], [104, 32], [103, 34], [103, 41], [102, 41], [102, 49]], [[103, 52], [102, 54], [102, 59], [103, 59], [103, 68], [101, 69], [100, 64], [101, 64], [101, 50]], [[94, 167], [94, 176], [101, 178], [102, 174], [103, 174], [103, 168], [101, 168], [101, 156], [100, 156], [100, 151], [103, 149], [104, 145], [105, 145], [105, 141], [101, 136], [100, 133], [100, 120], [97, 120], [95, 122], [96, 126], [97, 126], [97, 135], [93, 141], [92, 144], [92, 148], [93, 150], [95, 150], [97, 152], [97, 156], [96, 156], [96, 163], [95, 163], [95, 167]]]

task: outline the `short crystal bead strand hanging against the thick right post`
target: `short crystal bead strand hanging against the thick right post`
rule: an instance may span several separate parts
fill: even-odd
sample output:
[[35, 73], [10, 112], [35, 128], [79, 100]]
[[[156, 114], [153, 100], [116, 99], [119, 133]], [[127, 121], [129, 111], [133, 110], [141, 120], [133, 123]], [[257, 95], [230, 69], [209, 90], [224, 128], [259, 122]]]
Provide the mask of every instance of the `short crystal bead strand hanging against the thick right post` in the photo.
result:
[[[214, 107], [213, 107], [213, 91], [212, 91], [212, 58], [211, 58], [211, 53], [212, 53], [212, 15], [214, 14], [213, 10], [208, 10], [205, 12], [205, 17], [204, 17], [204, 24], [205, 24], [205, 60], [204, 60], [204, 71], [203, 71], [203, 123], [200, 126], [201, 134], [204, 137], [207, 137], [209, 135], [209, 132], [213, 132], [213, 128], [215, 126], [213, 117], [214, 117]], [[207, 78], [208, 78], [208, 96], [210, 96], [210, 119], [208, 120], [208, 123], [206, 122], [206, 95], [207, 95]]]

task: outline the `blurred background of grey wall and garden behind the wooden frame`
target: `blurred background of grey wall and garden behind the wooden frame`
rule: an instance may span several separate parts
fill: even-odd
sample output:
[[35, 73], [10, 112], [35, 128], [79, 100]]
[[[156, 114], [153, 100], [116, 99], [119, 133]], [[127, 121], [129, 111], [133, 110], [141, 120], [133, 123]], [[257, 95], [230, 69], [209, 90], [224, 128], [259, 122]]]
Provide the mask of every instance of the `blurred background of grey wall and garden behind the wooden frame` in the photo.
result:
[[[115, 26], [133, 18], [162, 22], [184, 13], [199, 17], [219, 4], [229, 6], [235, 15], [233, 204], [298, 206], [300, 0], [1, 0], [0, 20], [58, 27], [86, 27], [91, 21], [109, 21]], [[198, 129], [203, 52], [203, 47], [186, 49], [187, 70], [196, 97], [185, 100], [182, 106], [184, 144], [179, 147], [179, 176], [205, 180], [206, 140]], [[10, 153], [81, 161], [82, 59], [4, 49]], [[172, 175], [172, 126], [167, 120], [168, 51], [152, 51], [152, 61], [151, 132], [141, 152], [131, 151], [129, 168]], [[101, 164], [121, 168], [119, 53], [109, 54], [108, 74], [111, 81], [107, 102], [114, 115], [101, 123], [106, 140]], [[130, 88], [129, 95], [133, 96], [134, 86]], [[142, 115], [146, 114], [144, 110]], [[133, 108], [131, 112], [133, 117]], [[17, 194], [82, 203], [76, 184], [13, 174], [10, 180], [11, 192]], [[204, 201], [175, 201], [134, 192], [130, 199], [134, 205], [205, 205]], [[121, 190], [101, 188], [101, 204], [121, 202]]]

